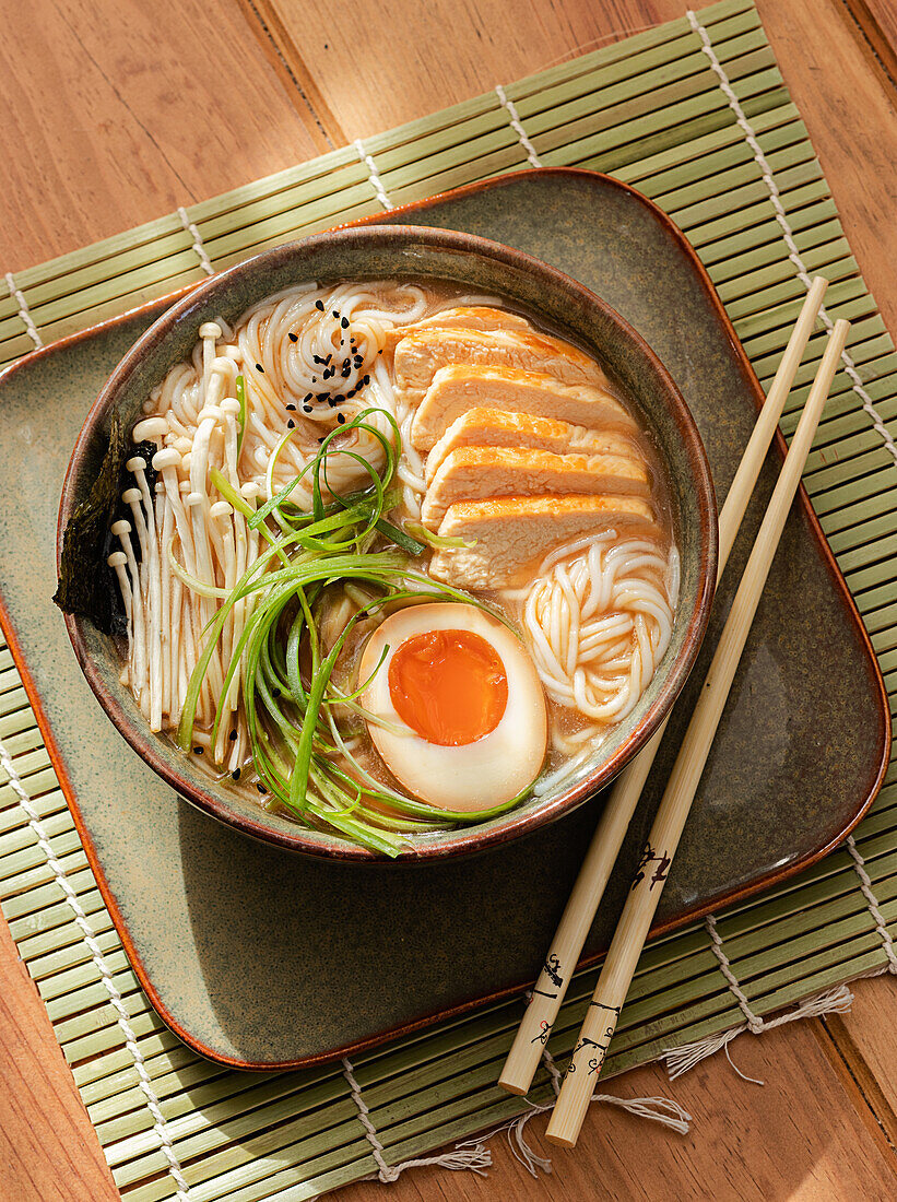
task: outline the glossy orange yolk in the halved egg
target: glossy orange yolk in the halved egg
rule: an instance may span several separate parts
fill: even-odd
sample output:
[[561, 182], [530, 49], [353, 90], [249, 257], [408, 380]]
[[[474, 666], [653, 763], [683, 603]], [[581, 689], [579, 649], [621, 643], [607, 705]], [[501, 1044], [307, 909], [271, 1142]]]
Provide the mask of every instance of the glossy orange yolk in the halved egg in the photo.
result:
[[422, 739], [463, 746], [494, 731], [507, 706], [507, 677], [495, 648], [469, 630], [430, 630], [390, 660], [396, 713]]

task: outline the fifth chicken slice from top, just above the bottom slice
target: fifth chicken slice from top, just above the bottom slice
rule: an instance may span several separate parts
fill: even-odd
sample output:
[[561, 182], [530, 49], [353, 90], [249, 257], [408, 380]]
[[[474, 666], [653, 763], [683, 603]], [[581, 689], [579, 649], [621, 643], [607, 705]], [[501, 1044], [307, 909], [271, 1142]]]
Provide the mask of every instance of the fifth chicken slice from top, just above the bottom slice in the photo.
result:
[[553, 454], [527, 447], [459, 447], [446, 457], [427, 488], [421, 520], [438, 530], [456, 501], [548, 493], [648, 496], [644, 463], [632, 456]]

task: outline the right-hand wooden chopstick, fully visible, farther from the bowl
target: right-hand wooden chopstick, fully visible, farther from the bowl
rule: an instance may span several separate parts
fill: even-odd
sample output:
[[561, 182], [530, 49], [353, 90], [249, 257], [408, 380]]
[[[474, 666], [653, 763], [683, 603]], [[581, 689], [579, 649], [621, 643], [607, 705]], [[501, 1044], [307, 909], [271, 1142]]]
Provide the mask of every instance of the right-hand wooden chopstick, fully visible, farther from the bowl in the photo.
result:
[[670, 864], [691, 809], [776, 548], [801, 482], [803, 465], [828, 398], [849, 328], [849, 322], [837, 321], [828, 338], [822, 362], [797, 423], [703, 689], [670, 774], [642, 855], [640, 870], [632, 882], [607, 959], [598, 978], [580, 1040], [574, 1048], [546, 1131], [546, 1137], [562, 1147], [572, 1148], [576, 1143], [607, 1047], [617, 1028], [619, 1012], [626, 999]]

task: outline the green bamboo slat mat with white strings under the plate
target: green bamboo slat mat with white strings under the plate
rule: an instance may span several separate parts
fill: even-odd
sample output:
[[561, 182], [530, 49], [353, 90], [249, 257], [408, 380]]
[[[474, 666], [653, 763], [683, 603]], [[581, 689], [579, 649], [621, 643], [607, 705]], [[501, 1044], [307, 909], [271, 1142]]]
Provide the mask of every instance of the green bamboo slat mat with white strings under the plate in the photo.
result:
[[[828, 278], [830, 317], [849, 317], [854, 329], [804, 480], [897, 696], [897, 356], [758, 14], [743, 0], [7, 276], [0, 362], [196, 281], [209, 267], [529, 165], [598, 168], [657, 201], [701, 255], [764, 385], [803, 298], [803, 273]], [[824, 341], [820, 333], [801, 369], [786, 435]], [[155, 1016], [6, 648], [0, 740], [0, 904], [124, 1197], [299, 1202], [375, 1173], [340, 1065], [228, 1071], [198, 1058]], [[696, 923], [646, 948], [608, 1072], [743, 1024], [712, 933], [756, 1016], [897, 969], [893, 766], [849, 845], [719, 914], [715, 927]], [[552, 1035], [556, 1058], [572, 1047], [594, 978], [584, 972], [571, 989]], [[495, 1005], [355, 1058], [386, 1162], [522, 1112], [521, 1099], [494, 1085], [519, 1014], [518, 1000]], [[541, 1072], [530, 1097], [550, 1096]]]

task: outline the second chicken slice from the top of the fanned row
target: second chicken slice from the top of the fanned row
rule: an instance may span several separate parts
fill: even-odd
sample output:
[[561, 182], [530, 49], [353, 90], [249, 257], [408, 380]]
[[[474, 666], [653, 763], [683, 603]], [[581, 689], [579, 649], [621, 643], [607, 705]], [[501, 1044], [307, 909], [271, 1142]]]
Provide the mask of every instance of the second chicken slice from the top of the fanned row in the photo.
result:
[[440, 368], [476, 364], [541, 371], [566, 385], [605, 387], [607, 380], [593, 358], [559, 338], [534, 329], [420, 329], [396, 346], [396, 386], [415, 405]]

